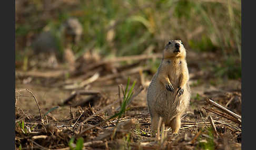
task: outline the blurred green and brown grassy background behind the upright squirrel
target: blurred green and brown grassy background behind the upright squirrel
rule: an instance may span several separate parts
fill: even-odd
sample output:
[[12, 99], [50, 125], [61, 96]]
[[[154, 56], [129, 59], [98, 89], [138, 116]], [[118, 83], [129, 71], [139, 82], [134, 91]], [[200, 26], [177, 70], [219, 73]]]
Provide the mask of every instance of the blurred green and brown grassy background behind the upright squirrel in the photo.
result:
[[[188, 53], [204, 59], [196, 64], [201, 70], [212, 67], [214, 77], [241, 78], [241, 1], [15, 3], [16, 69], [57, 68], [85, 53], [101, 59], [154, 55], [168, 40], [181, 39]], [[153, 72], [159, 62], [152, 62]]]

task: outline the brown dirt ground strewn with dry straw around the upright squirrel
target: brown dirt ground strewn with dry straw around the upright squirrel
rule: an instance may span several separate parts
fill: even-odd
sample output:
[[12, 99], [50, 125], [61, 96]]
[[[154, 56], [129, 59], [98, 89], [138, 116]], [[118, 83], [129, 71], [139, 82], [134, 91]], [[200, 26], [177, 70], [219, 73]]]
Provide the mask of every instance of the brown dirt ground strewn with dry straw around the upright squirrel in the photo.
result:
[[[210, 98], [241, 115], [241, 80], [215, 78], [212, 68], [208, 67], [208, 62], [218, 62], [215, 58], [214, 53], [205, 55], [188, 52], [192, 97], [183, 116], [181, 130], [175, 135], [168, 127], [164, 132], [160, 131], [160, 135], [155, 135], [150, 130], [146, 93], [153, 76], [152, 71], [143, 70], [143, 76], [140, 71], [134, 71], [113, 77], [113, 74], [132, 72], [138, 66], [145, 66], [148, 60], [123, 65], [128, 66], [126, 68], [120, 62], [113, 62], [107, 63], [107, 66], [111, 66], [109, 70], [104, 65], [86, 69], [95, 63], [91, 61], [87, 62], [87, 66], [79, 68], [80, 71], [83, 70], [81, 74], [70, 75], [68, 78], [63, 73], [67, 70], [64, 65], [58, 69], [29, 71], [17, 68], [16, 149], [72, 149], [78, 147], [79, 137], [83, 137], [84, 149], [241, 149], [241, 124], [203, 109], [214, 109], [205, 101]], [[117, 68], [117, 72], [113, 68]], [[81, 85], [82, 81], [92, 79], [96, 72], [100, 72], [96, 80], [74, 88], [77, 84]], [[119, 123], [117, 118], [107, 120], [119, 112], [119, 84], [125, 87], [128, 77], [131, 77], [131, 82], [137, 81], [133, 90], [135, 93], [139, 91], [140, 85], [144, 89], [127, 106]], [[34, 94], [44, 122], [34, 98], [25, 89]], [[50, 112], [47, 113], [48, 111]], [[209, 122], [209, 116], [213, 119], [218, 135]], [[85, 131], [88, 127], [92, 128]], [[74, 142], [70, 142], [72, 137], [75, 137]]]

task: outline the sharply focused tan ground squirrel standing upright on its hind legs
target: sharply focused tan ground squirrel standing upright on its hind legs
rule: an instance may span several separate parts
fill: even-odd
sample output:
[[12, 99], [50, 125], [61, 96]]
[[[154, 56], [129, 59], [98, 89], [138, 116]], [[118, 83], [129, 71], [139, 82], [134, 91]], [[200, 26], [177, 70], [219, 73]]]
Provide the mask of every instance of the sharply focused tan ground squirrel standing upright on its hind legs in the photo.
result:
[[147, 91], [147, 106], [152, 130], [156, 130], [160, 117], [173, 133], [181, 127], [181, 115], [189, 105], [189, 70], [186, 50], [181, 40], [170, 40], [163, 50], [163, 58]]

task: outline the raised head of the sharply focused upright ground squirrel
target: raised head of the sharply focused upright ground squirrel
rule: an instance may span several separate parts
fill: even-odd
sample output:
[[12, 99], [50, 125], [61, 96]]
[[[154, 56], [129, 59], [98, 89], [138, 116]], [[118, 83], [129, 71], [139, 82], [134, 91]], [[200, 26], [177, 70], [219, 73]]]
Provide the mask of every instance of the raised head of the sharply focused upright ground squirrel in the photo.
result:
[[164, 58], [186, 57], [186, 50], [181, 40], [169, 40], [164, 48]]

